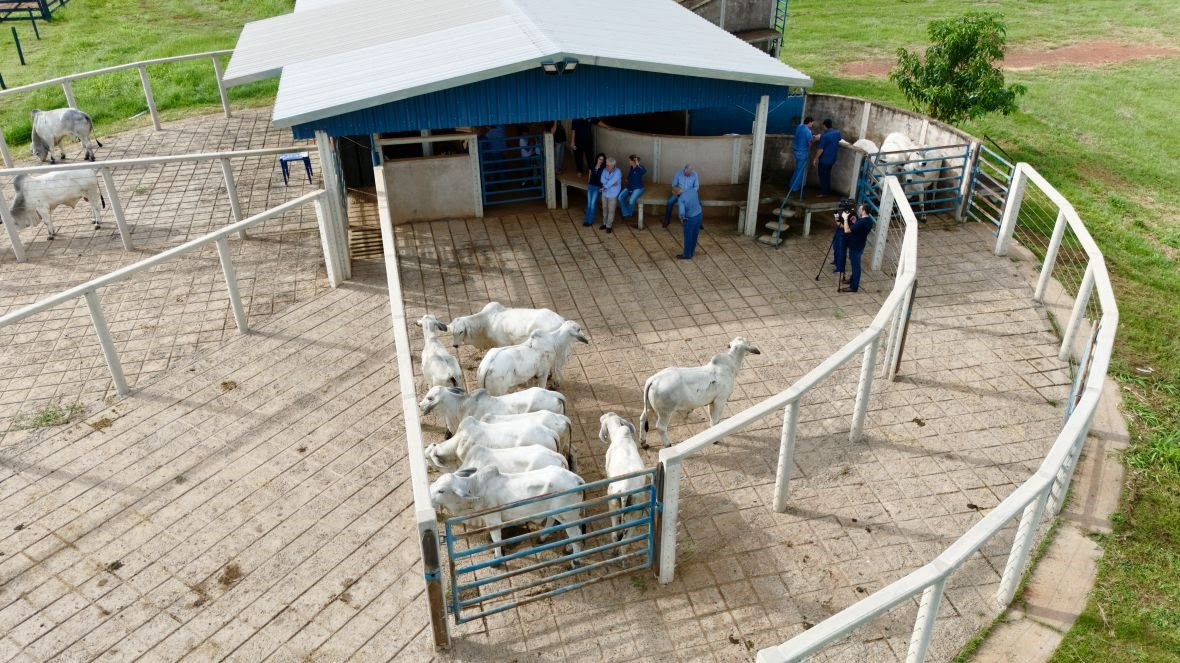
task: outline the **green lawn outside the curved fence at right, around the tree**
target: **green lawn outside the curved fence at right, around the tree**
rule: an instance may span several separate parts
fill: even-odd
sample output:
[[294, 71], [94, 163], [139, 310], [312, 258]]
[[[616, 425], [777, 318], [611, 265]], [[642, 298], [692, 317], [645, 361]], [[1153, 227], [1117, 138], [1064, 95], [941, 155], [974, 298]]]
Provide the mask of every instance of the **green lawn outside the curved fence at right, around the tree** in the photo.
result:
[[[794, 0], [782, 57], [815, 79], [817, 92], [905, 107], [889, 80], [848, 78], [841, 65], [924, 48], [929, 20], [981, 8], [1004, 15], [1009, 48], [1022, 51], [1088, 40], [1180, 44], [1174, 0]], [[1112, 372], [1133, 436], [1095, 590], [1054, 659], [1180, 661], [1180, 58], [1008, 79], [1029, 88], [1021, 111], [963, 129], [1036, 166], [1106, 255], [1122, 319]]]

